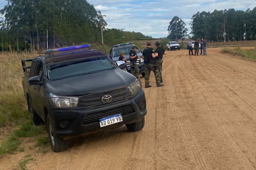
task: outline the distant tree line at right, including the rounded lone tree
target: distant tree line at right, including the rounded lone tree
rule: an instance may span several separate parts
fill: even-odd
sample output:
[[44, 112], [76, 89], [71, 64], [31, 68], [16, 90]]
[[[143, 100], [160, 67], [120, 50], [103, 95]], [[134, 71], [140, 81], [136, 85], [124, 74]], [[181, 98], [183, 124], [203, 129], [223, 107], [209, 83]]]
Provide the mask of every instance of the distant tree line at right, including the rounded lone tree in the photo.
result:
[[246, 11], [214, 10], [212, 13], [202, 11], [193, 14], [191, 26], [192, 37], [187, 36], [186, 24], [175, 16], [168, 27], [170, 40], [189, 37], [206, 38], [208, 41], [256, 40], [256, 7]]

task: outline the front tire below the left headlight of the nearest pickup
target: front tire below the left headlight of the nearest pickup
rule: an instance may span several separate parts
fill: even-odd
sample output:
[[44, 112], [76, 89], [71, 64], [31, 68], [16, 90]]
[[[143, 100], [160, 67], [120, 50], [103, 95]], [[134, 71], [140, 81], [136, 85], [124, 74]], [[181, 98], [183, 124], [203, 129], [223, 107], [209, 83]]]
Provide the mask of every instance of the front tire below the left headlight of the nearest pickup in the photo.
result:
[[49, 141], [51, 143], [52, 151], [61, 152], [67, 150], [67, 141], [61, 137], [56, 136], [55, 129], [52, 127], [52, 120], [47, 115], [47, 132], [49, 136]]

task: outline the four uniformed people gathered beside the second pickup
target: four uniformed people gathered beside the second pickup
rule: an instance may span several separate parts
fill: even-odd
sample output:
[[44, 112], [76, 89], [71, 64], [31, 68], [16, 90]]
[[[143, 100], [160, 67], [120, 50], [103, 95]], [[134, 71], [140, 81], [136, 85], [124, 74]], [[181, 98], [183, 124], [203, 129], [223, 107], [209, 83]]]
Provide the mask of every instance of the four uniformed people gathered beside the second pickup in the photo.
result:
[[[163, 65], [163, 55], [166, 54], [164, 48], [160, 47], [160, 42], [156, 42], [156, 49], [151, 48], [151, 43], [147, 42], [147, 47], [143, 50], [143, 59], [145, 64], [145, 88], [150, 88], [149, 85], [149, 77], [151, 71], [154, 72], [154, 76], [156, 79], [157, 87], [162, 87], [163, 77], [162, 77], [162, 65]], [[130, 65], [131, 65], [131, 74], [137, 77], [140, 74], [140, 69], [137, 65], [137, 59], [140, 57], [137, 56], [137, 47], [133, 46], [129, 56], [130, 56]], [[125, 59], [125, 53], [121, 52], [119, 61], [124, 61], [127, 63], [127, 59]], [[126, 68], [123, 70], [127, 71]]]

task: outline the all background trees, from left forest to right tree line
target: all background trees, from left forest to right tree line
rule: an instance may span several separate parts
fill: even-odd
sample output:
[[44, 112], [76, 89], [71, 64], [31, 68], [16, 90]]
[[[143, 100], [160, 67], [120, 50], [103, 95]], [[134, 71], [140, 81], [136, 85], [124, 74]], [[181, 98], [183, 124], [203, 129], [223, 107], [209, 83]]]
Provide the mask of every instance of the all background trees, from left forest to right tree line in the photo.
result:
[[[140, 32], [106, 28], [101, 11], [96, 11], [86, 0], [8, 0], [0, 13], [1, 51], [35, 51], [102, 42], [102, 35], [104, 43], [110, 46], [133, 40], [153, 40]], [[212, 13], [198, 11], [191, 18], [190, 33], [180, 18], [174, 18], [166, 35], [171, 40], [256, 40], [256, 7], [246, 11], [233, 8]], [[172, 25], [177, 23], [179, 25]]]

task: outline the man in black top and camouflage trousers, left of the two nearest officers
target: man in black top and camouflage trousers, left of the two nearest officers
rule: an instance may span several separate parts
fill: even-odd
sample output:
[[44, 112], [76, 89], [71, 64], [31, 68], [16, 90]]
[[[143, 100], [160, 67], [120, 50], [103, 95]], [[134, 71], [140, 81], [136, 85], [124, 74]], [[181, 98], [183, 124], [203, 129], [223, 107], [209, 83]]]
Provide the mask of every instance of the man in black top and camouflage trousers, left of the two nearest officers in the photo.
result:
[[154, 72], [157, 87], [163, 86], [163, 84], [160, 82], [160, 74], [157, 69], [157, 60], [155, 58], [156, 56], [154, 54], [154, 49], [151, 48], [151, 43], [147, 42], [147, 47], [143, 50], [143, 59], [145, 63], [145, 88], [151, 87], [151, 85], [149, 85], [149, 77], [151, 71]]

